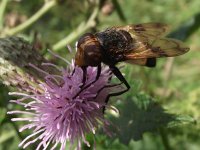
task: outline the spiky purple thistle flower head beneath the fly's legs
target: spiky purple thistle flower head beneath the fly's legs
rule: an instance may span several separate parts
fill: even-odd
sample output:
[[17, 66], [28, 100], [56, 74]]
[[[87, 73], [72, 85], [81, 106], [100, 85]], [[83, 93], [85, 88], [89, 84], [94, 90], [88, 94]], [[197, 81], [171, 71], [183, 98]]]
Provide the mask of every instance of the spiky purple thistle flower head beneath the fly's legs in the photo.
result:
[[104, 118], [103, 109], [112, 107], [105, 103], [105, 99], [111, 91], [121, 87], [119, 84], [110, 84], [112, 73], [107, 67], [102, 68], [95, 83], [87, 86], [96, 78], [95, 67], [87, 68], [87, 78], [83, 85], [83, 71], [75, 67], [73, 62], [66, 68], [50, 63], [43, 65], [54, 67], [59, 75], [49, 74], [32, 65], [45, 74], [45, 82], [40, 83], [40, 88], [32, 91], [33, 94], [10, 93], [21, 96], [11, 102], [25, 108], [24, 111], [9, 111], [8, 114], [23, 115], [21, 118], [12, 118], [12, 121], [27, 121], [20, 132], [33, 130], [19, 146], [26, 148], [36, 141], [39, 141], [37, 150], [48, 147], [53, 150], [59, 144], [60, 149], [64, 150], [66, 142], [70, 142], [70, 145], [76, 143], [77, 149], [81, 149], [82, 142], [90, 146], [85, 135], [95, 134], [99, 125], [107, 128], [109, 121]]

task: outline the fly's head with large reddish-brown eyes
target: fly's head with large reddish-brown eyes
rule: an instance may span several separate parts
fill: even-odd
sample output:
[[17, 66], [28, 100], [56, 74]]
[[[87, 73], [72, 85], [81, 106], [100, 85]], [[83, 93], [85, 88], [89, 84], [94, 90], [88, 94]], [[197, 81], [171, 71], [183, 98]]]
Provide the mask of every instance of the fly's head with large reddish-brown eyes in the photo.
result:
[[86, 33], [76, 44], [75, 64], [82, 66], [98, 66], [101, 63], [101, 45], [95, 35]]

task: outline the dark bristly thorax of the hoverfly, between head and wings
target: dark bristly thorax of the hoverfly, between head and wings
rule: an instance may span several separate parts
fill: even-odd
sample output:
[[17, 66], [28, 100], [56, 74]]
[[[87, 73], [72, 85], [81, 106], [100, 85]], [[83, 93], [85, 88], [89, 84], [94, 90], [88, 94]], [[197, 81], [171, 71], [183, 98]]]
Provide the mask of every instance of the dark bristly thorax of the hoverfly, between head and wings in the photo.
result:
[[124, 30], [107, 29], [95, 34], [102, 46], [102, 62], [115, 65], [124, 61], [124, 55], [133, 44], [131, 35]]

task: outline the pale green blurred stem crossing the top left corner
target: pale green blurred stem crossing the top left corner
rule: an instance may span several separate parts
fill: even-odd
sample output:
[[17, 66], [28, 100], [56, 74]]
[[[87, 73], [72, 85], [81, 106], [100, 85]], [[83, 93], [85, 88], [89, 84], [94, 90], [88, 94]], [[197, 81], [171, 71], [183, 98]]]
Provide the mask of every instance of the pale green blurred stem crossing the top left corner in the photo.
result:
[[36, 22], [40, 17], [42, 17], [47, 11], [49, 11], [53, 6], [56, 5], [56, 0], [49, 0], [47, 1], [43, 7], [38, 10], [31, 18], [29, 18], [24, 23], [18, 25], [17, 27], [13, 29], [7, 29], [5, 32], [5, 35], [15, 35], [19, 33], [20, 31], [26, 29], [30, 25], [32, 25], [34, 22]]

